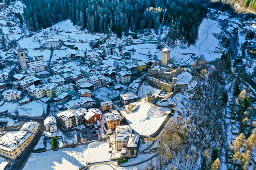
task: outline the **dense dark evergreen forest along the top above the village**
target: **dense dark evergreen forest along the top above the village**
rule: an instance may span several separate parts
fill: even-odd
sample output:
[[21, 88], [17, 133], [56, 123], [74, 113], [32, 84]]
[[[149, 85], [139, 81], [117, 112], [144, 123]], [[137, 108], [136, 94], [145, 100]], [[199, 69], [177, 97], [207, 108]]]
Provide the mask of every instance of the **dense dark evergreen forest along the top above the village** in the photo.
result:
[[[133, 32], [149, 28], [158, 33], [160, 26], [170, 26], [190, 43], [197, 38], [197, 29], [207, 9], [189, 0], [23, 0], [29, 29], [37, 31], [61, 20], [70, 19], [88, 31]], [[172, 37], [172, 36], [171, 36]], [[176, 36], [177, 37], [177, 36]]]

